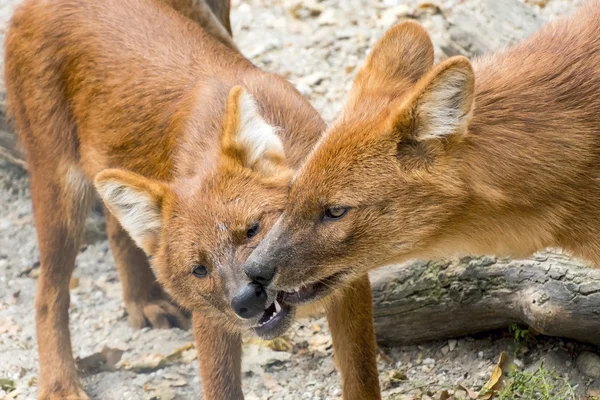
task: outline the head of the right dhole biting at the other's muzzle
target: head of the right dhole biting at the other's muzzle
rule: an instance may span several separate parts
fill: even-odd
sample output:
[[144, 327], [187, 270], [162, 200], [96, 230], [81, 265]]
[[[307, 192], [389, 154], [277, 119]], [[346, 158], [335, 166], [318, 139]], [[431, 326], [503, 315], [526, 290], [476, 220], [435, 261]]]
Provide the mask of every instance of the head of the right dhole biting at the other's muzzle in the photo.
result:
[[341, 117], [293, 178], [284, 212], [244, 269], [309, 302], [431, 249], [466, 201], [461, 146], [473, 107], [464, 57], [433, 67], [417, 23], [375, 45]]

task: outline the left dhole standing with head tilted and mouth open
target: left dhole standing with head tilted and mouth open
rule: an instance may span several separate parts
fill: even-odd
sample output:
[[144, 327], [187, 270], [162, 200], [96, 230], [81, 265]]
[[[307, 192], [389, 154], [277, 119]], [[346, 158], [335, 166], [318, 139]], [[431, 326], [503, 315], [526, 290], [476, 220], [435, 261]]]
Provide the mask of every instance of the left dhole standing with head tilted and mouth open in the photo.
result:
[[[26, 148], [40, 250], [41, 399], [87, 398], [71, 350], [69, 278], [94, 187], [131, 324], [187, 324], [154, 271], [193, 311], [205, 398], [243, 398], [241, 333], [272, 337], [294, 316], [294, 305], [241, 267], [324, 124], [227, 35], [165, 3], [177, 5], [27, 0], [8, 30], [8, 104]], [[370, 295], [364, 275], [327, 308], [347, 399], [379, 398]]]

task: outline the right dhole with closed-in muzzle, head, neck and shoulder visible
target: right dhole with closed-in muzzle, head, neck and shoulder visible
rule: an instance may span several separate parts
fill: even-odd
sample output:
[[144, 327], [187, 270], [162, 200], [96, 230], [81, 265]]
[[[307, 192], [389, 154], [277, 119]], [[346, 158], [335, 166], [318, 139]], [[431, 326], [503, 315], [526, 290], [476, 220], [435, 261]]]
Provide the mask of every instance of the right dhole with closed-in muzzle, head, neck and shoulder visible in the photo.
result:
[[597, 1], [472, 64], [390, 29], [244, 268], [317, 299], [390, 263], [548, 246], [600, 265]]

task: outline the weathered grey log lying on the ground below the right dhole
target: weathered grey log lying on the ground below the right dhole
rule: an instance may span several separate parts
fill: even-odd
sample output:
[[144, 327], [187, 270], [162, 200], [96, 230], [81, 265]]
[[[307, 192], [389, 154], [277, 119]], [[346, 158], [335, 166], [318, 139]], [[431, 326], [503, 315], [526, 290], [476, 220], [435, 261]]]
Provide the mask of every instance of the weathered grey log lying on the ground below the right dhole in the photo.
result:
[[566, 254], [415, 262], [371, 275], [380, 343], [447, 339], [511, 323], [600, 345], [600, 270]]

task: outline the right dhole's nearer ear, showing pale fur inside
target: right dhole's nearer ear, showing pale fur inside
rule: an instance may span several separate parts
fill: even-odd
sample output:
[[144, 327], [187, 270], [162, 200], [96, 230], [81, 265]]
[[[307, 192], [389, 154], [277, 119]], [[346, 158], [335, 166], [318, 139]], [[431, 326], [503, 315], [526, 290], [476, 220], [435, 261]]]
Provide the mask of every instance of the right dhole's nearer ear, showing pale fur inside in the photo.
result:
[[403, 138], [425, 142], [464, 133], [473, 111], [475, 76], [469, 60], [452, 57], [417, 83], [392, 129]]

